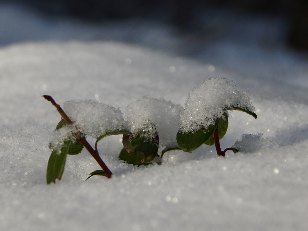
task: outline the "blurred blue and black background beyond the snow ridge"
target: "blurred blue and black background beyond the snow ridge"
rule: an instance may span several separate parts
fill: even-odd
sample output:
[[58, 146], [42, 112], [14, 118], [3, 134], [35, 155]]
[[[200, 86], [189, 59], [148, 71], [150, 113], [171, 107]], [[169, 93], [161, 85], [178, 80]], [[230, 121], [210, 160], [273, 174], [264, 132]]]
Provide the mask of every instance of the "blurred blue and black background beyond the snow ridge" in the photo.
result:
[[118, 41], [303, 86], [308, 1], [0, 0], [0, 46], [50, 40]]

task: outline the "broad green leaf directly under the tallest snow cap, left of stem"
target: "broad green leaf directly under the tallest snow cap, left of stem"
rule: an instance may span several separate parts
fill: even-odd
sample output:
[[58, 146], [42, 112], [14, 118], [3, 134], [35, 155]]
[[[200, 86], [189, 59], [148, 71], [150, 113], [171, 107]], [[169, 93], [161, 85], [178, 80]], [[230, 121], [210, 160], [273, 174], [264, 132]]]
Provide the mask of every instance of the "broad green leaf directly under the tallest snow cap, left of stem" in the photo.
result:
[[197, 132], [177, 132], [177, 144], [184, 152], [192, 152], [196, 148], [199, 148], [201, 144], [203, 144], [206, 140], [209, 140], [209, 138], [213, 135], [216, 127], [217, 121], [215, 124], [209, 126], [209, 128], [201, 128]]

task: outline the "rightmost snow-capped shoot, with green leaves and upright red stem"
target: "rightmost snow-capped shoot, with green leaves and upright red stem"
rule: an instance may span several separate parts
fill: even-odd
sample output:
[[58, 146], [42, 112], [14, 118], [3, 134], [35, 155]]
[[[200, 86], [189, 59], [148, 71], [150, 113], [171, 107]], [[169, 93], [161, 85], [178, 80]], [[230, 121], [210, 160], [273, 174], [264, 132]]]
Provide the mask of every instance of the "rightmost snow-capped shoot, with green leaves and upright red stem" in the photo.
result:
[[255, 108], [247, 91], [237, 91], [233, 81], [212, 77], [195, 87], [188, 95], [185, 109], [180, 114], [177, 143], [185, 152], [191, 152], [201, 144], [215, 144], [217, 155], [225, 156], [219, 140], [228, 129], [227, 110], [244, 111], [257, 119]]

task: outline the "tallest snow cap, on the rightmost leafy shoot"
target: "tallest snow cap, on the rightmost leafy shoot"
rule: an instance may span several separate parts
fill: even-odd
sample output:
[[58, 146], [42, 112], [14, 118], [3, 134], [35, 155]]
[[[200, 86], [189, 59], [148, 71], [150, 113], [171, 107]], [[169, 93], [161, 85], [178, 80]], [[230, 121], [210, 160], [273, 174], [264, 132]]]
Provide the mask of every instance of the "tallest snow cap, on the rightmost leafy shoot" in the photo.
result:
[[237, 91], [235, 82], [224, 77], [211, 77], [189, 93], [180, 114], [179, 130], [183, 133], [207, 128], [231, 107], [254, 111], [248, 90]]

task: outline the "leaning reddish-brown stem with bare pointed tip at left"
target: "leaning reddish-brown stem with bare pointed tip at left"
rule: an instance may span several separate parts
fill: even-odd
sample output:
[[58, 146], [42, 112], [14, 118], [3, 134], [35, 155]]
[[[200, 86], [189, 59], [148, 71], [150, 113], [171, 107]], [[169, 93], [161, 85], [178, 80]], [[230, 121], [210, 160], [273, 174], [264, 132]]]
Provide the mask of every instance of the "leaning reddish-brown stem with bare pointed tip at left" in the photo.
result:
[[[43, 97], [45, 99], [47, 99], [48, 101], [50, 101], [52, 103], [52, 105], [54, 105], [57, 110], [59, 111], [59, 114], [62, 116], [63, 120], [67, 123], [67, 124], [72, 124], [73, 122], [70, 120], [70, 118], [65, 114], [65, 112], [62, 110], [62, 108], [60, 107], [59, 104], [57, 104], [55, 102], [55, 100], [50, 96], [50, 95], [43, 95]], [[108, 178], [110, 178], [112, 176], [112, 172], [110, 171], [110, 169], [107, 167], [107, 165], [104, 163], [104, 161], [100, 158], [96, 147], [95, 150], [92, 148], [92, 146], [88, 143], [88, 141], [86, 140], [85, 137], [79, 138], [78, 142], [80, 142], [81, 144], [83, 144], [83, 146], [88, 150], [88, 152], [90, 152], [90, 154], [93, 156], [93, 158], [96, 160], [96, 162], [99, 164], [99, 166], [106, 172], [106, 175]]]

